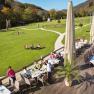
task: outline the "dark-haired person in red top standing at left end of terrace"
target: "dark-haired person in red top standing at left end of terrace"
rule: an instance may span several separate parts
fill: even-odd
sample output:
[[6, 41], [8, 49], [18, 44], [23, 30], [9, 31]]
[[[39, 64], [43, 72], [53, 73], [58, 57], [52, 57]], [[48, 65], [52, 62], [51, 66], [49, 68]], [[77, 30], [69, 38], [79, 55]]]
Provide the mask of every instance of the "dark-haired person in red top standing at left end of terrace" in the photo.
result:
[[13, 85], [16, 81], [15, 71], [11, 66], [8, 67], [7, 76], [9, 77], [9, 83]]

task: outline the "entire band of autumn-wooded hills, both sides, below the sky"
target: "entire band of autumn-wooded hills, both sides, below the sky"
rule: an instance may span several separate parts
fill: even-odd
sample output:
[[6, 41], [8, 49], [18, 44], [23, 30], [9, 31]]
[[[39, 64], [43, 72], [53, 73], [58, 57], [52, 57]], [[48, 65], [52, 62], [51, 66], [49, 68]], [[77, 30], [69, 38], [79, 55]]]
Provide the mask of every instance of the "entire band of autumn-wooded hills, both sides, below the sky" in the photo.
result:
[[[33, 4], [20, 3], [16, 0], [0, 0], [0, 28], [6, 27], [6, 19], [11, 26], [24, 25], [51, 19], [66, 18], [66, 10], [49, 11]], [[74, 7], [75, 17], [90, 16], [94, 12], [94, 0], [87, 0]]]

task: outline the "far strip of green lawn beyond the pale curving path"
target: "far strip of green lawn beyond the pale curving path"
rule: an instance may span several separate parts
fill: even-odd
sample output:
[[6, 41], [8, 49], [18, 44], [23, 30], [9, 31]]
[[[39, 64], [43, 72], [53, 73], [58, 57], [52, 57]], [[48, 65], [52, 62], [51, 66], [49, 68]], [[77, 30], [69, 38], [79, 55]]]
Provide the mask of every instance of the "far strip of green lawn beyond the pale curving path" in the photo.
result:
[[[90, 17], [80, 17], [80, 18], [76, 18], [75, 19], [75, 28], [79, 27], [79, 24], [82, 23], [83, 25], [89, 24], [90, 23]], [[61, 20], [61, 23], [58, 23], [57, 20], [53, 20], [52, 22], [41, 22], [41, 23], [33, 23], [33, 24], [29, 24], [28, 28], [38, 28], [38, 24], [39, 27], [43, 27], [45, 29], [50, 29], [50, 30], [55, 30], [61, 33], [64, 33], [66, 30], [66, 20], [63, 19]], [[27, 26], [26, 26], [27, 27]], [[86, 26], [86, 27], [82, 27], [76, 30], [76, 33], [83, 30], [83, 28], [86, 28], [86, 31], [88, 31], [88, 29], [90, 29], [90, 26]], [[85, 31], [85, 29], [84, 29]], [[86, 33], [86, 32], [82, 32], [82, 33]], [[78, 33], [77, 33], [78, 34]], [[89, 34], [89, 33], [88, 33]]]

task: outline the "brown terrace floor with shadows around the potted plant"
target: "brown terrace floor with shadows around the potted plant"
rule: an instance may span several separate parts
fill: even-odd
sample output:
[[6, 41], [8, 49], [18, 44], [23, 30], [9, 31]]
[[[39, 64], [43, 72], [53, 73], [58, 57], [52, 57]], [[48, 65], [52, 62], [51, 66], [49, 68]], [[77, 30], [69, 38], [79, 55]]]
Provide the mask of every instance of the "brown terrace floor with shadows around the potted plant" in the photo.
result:
[[42, 87], [37, 91], [29, 94], [94, 94], [94, 67], [81, 64], [83, 58], [78, 58], [80, 60], [80, 75], [83, 77], [83, 81], [77, 84], [74, 82], [74, 85], [71, 87], [66, 87], [64, 84], [64, 78], [58, 79], [54, 84]]

